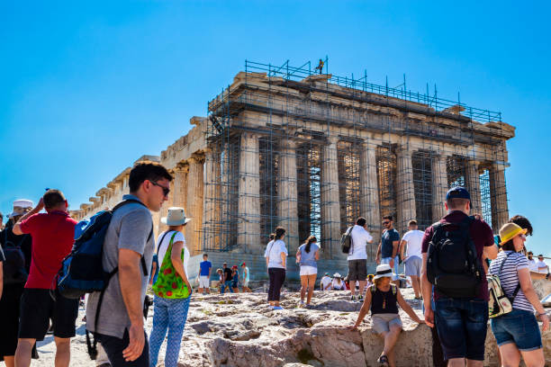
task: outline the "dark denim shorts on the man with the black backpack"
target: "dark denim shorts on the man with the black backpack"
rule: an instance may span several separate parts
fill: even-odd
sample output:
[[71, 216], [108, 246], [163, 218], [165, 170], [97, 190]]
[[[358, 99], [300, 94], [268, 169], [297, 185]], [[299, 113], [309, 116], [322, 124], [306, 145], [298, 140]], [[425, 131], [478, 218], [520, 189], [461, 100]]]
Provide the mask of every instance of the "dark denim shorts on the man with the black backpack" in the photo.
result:
[[446, 360], [483, 361], [488, 301], [440, 298], [435, 303], [436, 327]]

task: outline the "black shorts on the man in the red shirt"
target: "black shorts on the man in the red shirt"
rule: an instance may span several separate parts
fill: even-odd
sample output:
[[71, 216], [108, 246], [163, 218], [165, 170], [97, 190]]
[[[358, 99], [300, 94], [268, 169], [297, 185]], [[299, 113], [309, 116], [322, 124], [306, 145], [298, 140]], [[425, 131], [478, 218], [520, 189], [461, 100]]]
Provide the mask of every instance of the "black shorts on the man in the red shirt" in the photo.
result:
[[21, 297], [21, 319], [19, 338], [44, 340], [50, 319], [54, 336], [68, 338], [75, 336], [75, 322], [78, 316], [78, 300], [69, 300], [50, 290], [25, 288]]

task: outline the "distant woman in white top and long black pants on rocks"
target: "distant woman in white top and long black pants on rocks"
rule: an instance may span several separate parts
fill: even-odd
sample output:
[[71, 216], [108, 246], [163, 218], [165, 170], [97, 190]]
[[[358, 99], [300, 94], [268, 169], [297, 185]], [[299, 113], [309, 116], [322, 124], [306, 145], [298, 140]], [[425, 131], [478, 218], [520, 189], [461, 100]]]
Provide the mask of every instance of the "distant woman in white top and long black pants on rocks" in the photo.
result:
[[279, 306], [281, 287], [285, 282], [285, 268], [287, 264], [287, 246], [283, 238], [285, 237], [285, 228], [277, 227], [274, 234], [274, 240], [266, 246], [266, 267], [270, 285], [268, 289], [268, 303], [274, 309], [283, 309]]

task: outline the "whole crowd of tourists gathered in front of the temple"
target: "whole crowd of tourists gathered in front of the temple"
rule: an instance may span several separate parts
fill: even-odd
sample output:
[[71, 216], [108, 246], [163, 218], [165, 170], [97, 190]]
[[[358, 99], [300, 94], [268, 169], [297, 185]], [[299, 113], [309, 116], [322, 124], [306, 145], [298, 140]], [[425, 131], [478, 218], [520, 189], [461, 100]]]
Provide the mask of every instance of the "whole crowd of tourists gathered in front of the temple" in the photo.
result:
[[[186, 218], [183, 208], [169, 208], [161, 219], [167, 230], [156, 239], [151, 218], [151, 211], [158, 211], [167, 201], [171, 180], [167, 169], [158, 164], [134, 166], [130, 193], [111, 212], [101, 252], [101, 266], [109, 278], [102, 291], [91, 292], [86, 300], [86, 330], [93, 335], [88, 349], [98, 365], [156, 366], [165, 339], [165, 365], [177, 365], [193, 293], [190, 251], [182, 231], [192, 219]], [[470, 195], [462, 187], [447, 192], [446, 209], [447, 215], [424, 232], [410, 220], [402, 237], [393, 226], [393, 217], [385, 216], [375, 274], [367, 274], [367, 246], [374, 238], [366, 219], [358, 218], [347, 231], [351, 244], [348, 274], [330, 277], [324, 273], [321, 291], [349, 290], [351, 300], [363, 302], [352, 328], [361, 327], [370, 314], [375, 332], [384, 338], [378, 359], [382, 366], [396, 365], [394, 351], [402, 331], [398, 306], [413, 321], [431, 328], [437, 366], [482, 366], [489, 318], [502, 365], [519, 365], [522, 357], [527, 366], [543, 366], [537, 318], [543, 330], [549, 318], [532, 280], [548, 280], [549, 273], [543, 256], [536, 262], [533, 254], [525, 255], [526, 236], [533, 231], [528, 219], [511, 218], [494, 237], [479, 215], [469, 215]], [[51, 332], [56, 366], [68, 366], [79, 300], [62, 294], [58, 273], [77, 246], [80, 228], [68, 214], [64, 194], [54, 189], [48, 189], [36, 205], [14, 201], [8, 218], [0, 232], [0, 358], [8, 367], [29, 366], [38, 357], [36, 342]], [[283, 309], [280, 300], [288, 260], [285, 234], [285, 228], [277, 227], [264, 254], [267, 302], [273, 310]], [[318, 239], [306, 238], [294, 255], [300, 266], [298, 306], [312, 308], [321, 255]], [[403, 299], [398, 277], [401, 260], [415, 299], [422, 300], [422, 319]], [[212, 277], [208, 254], [203, 255], [198, 273], [199, 292], [207, 294]], [[216, 273], [221, 293], [238, 292], [239, 285], [251, 291], [247, 264], [229, 267], [224, 263]], [[149, 309], [149, 284], [154, 315], [148, 336], [144, 316]]]

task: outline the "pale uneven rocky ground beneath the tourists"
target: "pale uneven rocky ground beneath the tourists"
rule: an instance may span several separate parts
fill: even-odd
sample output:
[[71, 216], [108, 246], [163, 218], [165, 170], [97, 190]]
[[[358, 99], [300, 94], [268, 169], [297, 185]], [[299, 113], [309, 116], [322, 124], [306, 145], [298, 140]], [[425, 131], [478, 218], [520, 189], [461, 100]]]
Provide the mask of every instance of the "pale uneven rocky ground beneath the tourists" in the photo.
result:
[[[547, 286], [546, 286], [547, 287]], [[544, 287], [544, 288], [546, 288]], [[541, 293], [551, 290], [542, 290]], [[415, 311], [421, 303], [411, 290], [402, 290]], [[372, 331], [369, 317], [359, 330], [349, 327], [361, 304], [348, 292], [316, 291], [313, 309], [298, 308], [296, 292], [282, 296], [284, 310], [266, 305], [266, 293], [193, 295], [182, 341], [182, 367], [199, 366], [375, 366], [383, 341]], [[82, 312], [82, 310], [81, 310]], [[152, 314], [152, 309], [149, 314]], [[396, 353], [399, 366], [431, 365], [430, 332], [401, 311], [403, 332]], [[94, 366], [86, 354], [85, 326], [78, 318], [72, 343], [73, 366]], [[152, 318], [148, 318], [148, 331]], [[544, 335], [547, 363], [551, 365], [551, 332]], [[495, 340], [488, 331], [486, 365], [497, 365]], [[47, 337], [39, 344], [41, 359], [33, 366], [53, 365], [55, 345]], [[164, 347], [159, 362], [162, 363]]]

